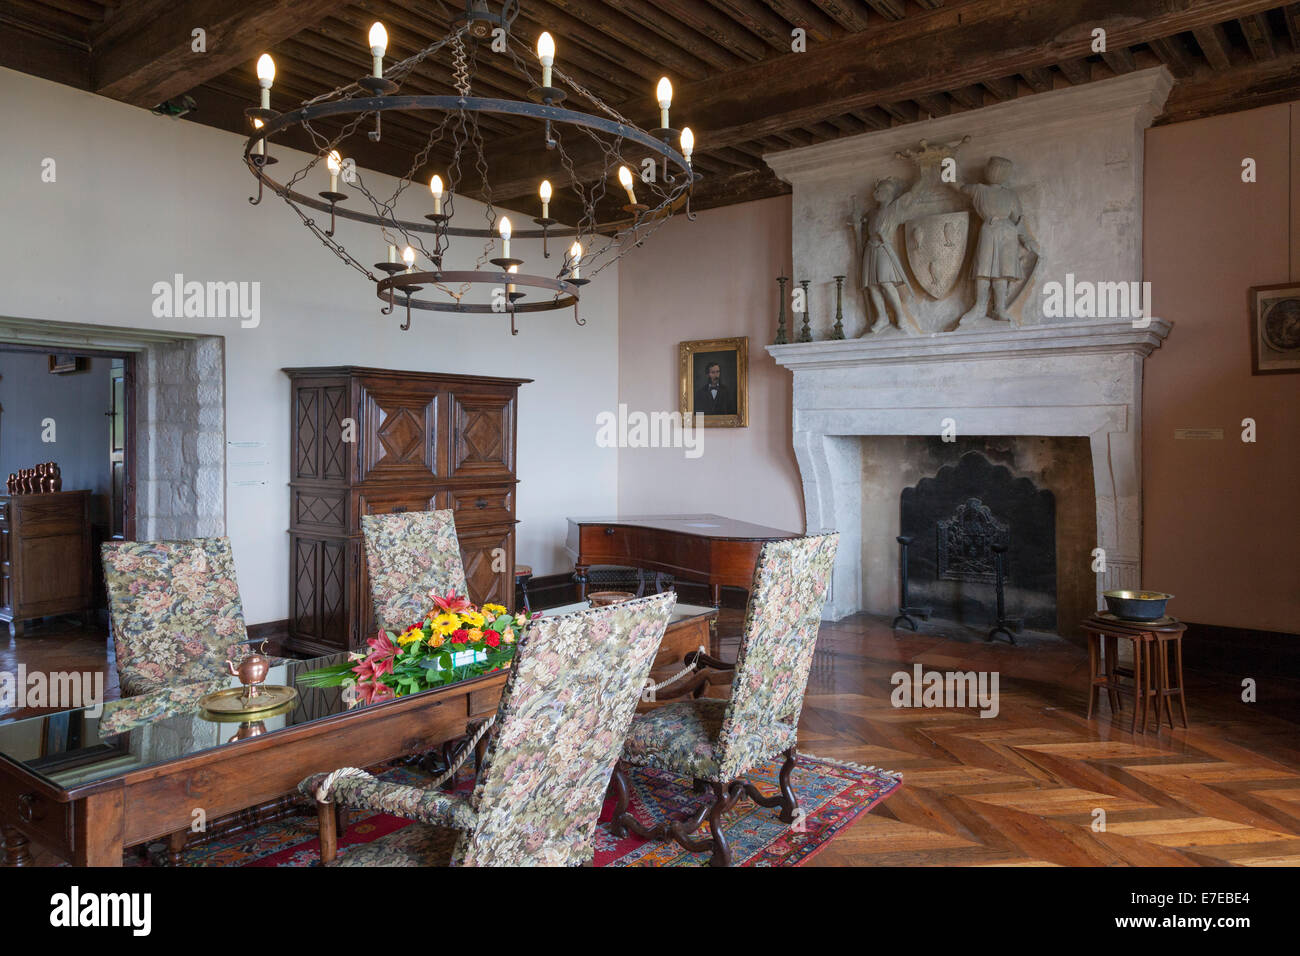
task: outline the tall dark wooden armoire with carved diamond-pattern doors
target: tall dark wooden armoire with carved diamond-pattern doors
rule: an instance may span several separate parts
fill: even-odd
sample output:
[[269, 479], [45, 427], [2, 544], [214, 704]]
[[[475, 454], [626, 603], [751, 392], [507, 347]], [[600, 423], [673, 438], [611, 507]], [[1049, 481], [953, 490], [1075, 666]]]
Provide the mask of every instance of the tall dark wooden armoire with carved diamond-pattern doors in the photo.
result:
[[519, 386], [381, 368], [291, 380], [289, 640], [359, 649], [374, 633], [361, 515], [451, 509], [469, 600], [514, 607]]

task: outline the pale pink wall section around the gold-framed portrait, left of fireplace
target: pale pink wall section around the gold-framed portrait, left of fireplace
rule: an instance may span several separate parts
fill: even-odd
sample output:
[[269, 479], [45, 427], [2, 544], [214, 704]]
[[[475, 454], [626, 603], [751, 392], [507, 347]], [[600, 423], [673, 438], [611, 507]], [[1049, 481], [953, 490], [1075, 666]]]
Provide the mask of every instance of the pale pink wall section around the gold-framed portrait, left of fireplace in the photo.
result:
[[803, 531], [790, 373], [764, 350], [789, 263], [788, 196], [673, 217], [619, 263], [619, 401], [629, 411], [677, 410], [679, 342], [749, 336], [749, 428], [706, 429], [696, 459], [621, 449], [621, 514], [715, 512]]

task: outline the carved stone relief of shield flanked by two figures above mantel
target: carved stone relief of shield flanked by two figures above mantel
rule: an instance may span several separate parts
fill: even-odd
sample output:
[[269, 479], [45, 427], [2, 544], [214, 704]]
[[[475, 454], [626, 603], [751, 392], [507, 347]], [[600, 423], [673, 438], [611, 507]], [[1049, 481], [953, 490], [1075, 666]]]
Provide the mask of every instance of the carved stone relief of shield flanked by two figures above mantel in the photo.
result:
[[956, 155], [968, 139], [920, 140], [896, 153], [916, 168], [911, 185], [897, 177], [878, 181], [866, 215], [854, 198], [870, 333], [1020, 324], [1039, 247], [1010, 182], [1010, 160], [991, 157], [983, 182], [959, 181]]

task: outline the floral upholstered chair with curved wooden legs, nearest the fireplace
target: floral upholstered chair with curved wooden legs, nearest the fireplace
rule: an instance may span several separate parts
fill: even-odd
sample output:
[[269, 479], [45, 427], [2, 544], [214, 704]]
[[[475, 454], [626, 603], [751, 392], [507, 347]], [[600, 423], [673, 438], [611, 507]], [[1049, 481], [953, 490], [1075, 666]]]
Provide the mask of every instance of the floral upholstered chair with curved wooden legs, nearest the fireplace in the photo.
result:
[[[675, 701], [632, 721], [623, 745], [624, 762], [692, 777], [697, 791], [712, 791], [712, 800], [688, 819], [645, 827], [628, 812], [628, 780], [618, 767], [614, 771], [618, 804], [610, 825], [615, 836], [624, 836], [628, 830], [650, 839], [671, 836], [697, 853], [712, 851], [711, 865], [729, 866], [731, 848], [722, 818], [741, 793], [762, 806], [780, 805], [779, 818], [784, 823], [794, 819], [798, 799], [790, 787], [790, 774], [798, 756], [800, 711], [838, 537], [832, 532], [763, 545], [734, 666], [696, 654], [697, 674], [684, 689], [656, 695], [663, 700], [686, 691], [699, 693], [702, 684], [711, 683], [702, 669], [714, 667], [734, 671], [729, 700]], [[777, 754], [785, 756], [781, 793], [768, 797], [744, 777]], [[706, 817], [710, 839], [692, 839]]]

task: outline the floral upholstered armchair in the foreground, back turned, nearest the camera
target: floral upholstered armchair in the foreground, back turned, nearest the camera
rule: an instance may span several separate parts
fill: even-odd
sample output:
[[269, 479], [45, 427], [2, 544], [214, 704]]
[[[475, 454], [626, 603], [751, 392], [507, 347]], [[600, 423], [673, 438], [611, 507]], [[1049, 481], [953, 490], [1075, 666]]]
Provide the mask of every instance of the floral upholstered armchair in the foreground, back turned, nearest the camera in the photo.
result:
[[[385, 783], [347, 767], [299, 786], [316, 797], [321, 861], [346, 866], [581, 865], [676, 594], [528, 626], [472, 795]], [[417, 821], [335, 861], [333, 803]]]

